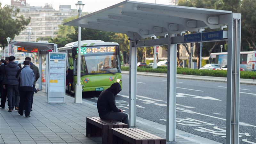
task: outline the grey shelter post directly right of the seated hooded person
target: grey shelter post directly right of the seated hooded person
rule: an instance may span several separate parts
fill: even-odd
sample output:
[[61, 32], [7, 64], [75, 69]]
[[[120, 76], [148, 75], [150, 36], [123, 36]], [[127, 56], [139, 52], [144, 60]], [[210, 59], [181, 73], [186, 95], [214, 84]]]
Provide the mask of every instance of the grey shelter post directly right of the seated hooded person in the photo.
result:
[[130, 41], [129, 64], [129, 123], [130, 126], [136, 126], [137, 47], [132, 47], [132, 41]]

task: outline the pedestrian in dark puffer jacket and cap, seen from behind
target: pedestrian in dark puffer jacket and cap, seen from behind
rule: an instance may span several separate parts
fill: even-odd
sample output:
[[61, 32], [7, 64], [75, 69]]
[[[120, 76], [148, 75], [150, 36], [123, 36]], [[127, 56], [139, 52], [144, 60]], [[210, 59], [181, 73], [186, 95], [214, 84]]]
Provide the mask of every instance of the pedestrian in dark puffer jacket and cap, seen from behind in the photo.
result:
[[[8, 107], [9, 112], [12, 112], [13, 108], [19, 110], [19, 91], [18, 91], [18, 79], [15, 77], [20, 67], [14, 62], [15, 57], [9, 57], [9, 63], [4, 66], [4, 80], [3, 88], [7, 88]], [[5, 87], [7, 86], [7, 87]]]

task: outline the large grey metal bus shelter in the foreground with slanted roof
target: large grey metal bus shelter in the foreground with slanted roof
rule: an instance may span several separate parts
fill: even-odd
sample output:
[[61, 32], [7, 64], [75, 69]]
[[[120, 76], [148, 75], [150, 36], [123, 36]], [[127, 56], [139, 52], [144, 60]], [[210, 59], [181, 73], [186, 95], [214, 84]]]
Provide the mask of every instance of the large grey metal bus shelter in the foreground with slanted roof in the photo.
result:
[[[130, 40], [129, 120], [136, 126], [137, 47], [168, 45], [166, 140], [175, 141], [177, 44], [228, 41], [226, 143], [238, 143], [241, 14], [126, 0], [64, 25], [127, 34]], [[202, 28], [219, 29], [202, 33]], [[228, 31], [223, 31], [228, 27]], [[185, 34], [184, 31], [193, 32]], [[158, 39], [149, 39], [158, 36]]]

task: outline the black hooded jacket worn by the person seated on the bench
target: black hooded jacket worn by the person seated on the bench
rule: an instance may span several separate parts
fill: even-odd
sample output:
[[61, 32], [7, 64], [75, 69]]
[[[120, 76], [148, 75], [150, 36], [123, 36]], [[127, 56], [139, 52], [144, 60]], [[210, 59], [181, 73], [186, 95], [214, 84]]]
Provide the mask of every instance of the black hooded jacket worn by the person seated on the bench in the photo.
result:
[[114, 83], [108, 89], [101, 92], [98, 102], [97, 108], [99, 115], [103, 116], [111, 111], [121, 112], [116, 107], [115, 95], [117, 95], [121, 91], [121, 85], [119, 83]]

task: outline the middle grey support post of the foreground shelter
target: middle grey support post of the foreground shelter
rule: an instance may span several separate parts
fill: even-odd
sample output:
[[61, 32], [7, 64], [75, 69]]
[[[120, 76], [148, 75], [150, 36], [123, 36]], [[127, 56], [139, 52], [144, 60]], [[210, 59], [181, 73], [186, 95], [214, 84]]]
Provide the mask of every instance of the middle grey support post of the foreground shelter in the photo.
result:
[[177, 67], [177, 44], [171, 44], [171, 33], [168, 33], [167, 50], [167, 123], [166, 140], [175, 141], [175, 118], [176, 118], [176, 67]]

